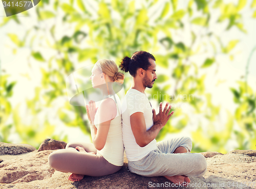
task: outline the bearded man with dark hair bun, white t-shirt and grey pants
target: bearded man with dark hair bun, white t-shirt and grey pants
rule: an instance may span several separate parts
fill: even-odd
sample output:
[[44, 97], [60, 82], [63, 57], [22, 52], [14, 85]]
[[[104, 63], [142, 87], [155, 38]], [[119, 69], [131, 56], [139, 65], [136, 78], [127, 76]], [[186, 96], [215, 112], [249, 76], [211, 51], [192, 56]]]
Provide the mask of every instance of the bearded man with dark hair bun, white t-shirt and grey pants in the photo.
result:
[[188, 176], [201, 176], [206, 172], [204, 156], [189, 153], [192, 143], [182, 137], [156, 142], [156, 137], [168, 119], [171, 106], [160, 103], [159, 114], [145, 95], [145, 88], [152, 88], [157, 79], [156, 59], [151, 53], [136, 51], [132, 57], [124, 57], [121, 70], [133, 77], [131, 88], [122, 104], [122, 132], [128, 167], [132, 173], [142, 176], [164, 176], [173, 183], [186, 185]]

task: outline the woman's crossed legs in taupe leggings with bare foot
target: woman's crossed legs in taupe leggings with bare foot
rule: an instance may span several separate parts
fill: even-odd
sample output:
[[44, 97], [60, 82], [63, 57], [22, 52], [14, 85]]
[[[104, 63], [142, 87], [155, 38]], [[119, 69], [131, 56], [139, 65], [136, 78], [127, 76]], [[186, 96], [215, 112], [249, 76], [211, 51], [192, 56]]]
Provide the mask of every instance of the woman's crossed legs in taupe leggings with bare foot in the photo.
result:
[[110, 164], [97, 154], [91, 143], [68, 143], [66, 149], [57, 150], [48, 157], [49, 165], [60, 172], [72, 173], [69, 179], [79, 181], [83, 175], [104, 176], [117, 172], [121, 166]]

